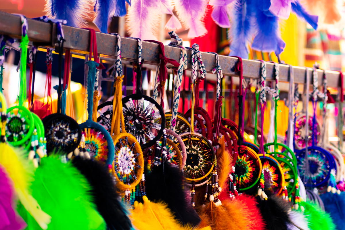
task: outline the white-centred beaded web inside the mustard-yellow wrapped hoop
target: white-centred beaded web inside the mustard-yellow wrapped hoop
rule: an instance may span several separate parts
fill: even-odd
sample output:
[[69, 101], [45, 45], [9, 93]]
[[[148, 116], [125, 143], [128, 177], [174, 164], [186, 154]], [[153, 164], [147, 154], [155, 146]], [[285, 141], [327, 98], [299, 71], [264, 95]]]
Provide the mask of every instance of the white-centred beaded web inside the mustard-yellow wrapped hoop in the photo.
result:
[[134, 148], [135, 143], [128, 143], [128, 137], [120, 138], [115, 145], [114, 170], [124, 184], [131, 184], [137, 180], [137, 169], [141, 168], [138, 163], [140, 153], [136, 153]]

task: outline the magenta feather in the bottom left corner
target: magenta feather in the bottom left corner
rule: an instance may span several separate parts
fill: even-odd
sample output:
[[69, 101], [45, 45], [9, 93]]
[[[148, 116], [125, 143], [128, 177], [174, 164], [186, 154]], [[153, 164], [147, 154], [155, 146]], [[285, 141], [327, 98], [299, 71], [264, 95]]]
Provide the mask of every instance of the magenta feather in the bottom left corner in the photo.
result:
[[20, 230], [27, 226], [24, 220], [13, 210], [14, 189], [7, 173], [0, 165], [0, 230]]

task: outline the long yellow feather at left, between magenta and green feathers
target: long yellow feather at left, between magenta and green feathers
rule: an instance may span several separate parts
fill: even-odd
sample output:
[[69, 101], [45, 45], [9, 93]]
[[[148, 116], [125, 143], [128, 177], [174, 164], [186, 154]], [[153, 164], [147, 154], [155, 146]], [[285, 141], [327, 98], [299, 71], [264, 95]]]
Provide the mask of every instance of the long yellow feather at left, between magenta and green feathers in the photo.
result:
[[0, 164], [6, 169], [8, 176], [12, 179], [14, 189], [25, 209], [42, 229], [47, 229], [51, 217], [41, 210], [38, 202], [28, 190], [28, 186], [32, 181], [33, 165], [24, 159], [21, 152], [15, 152], [14, 149], [3, 142], [0, 143]]

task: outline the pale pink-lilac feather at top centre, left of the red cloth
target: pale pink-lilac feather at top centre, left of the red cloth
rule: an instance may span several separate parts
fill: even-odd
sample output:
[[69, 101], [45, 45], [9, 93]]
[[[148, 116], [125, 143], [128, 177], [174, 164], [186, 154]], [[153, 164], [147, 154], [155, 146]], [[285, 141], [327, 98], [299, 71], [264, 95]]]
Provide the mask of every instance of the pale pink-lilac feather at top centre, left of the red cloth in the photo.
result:
[[206, 6], [206, 0], [175, 0], [177, 16], [189, 29], [188, 38], [202, 37], [207, 33], [203, 22]]

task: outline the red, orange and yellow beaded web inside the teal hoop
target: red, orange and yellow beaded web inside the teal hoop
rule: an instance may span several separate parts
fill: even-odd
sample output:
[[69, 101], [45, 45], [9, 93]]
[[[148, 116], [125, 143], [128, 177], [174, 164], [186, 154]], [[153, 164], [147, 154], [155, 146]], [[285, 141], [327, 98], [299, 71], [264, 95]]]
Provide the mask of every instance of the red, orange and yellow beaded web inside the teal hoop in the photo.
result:
[[108, 155], [108, 142], [104, 134], [94, 128], [85, 128], [82, 134], [85, 137], [85, 149], [90, 157], [105, 161]]

